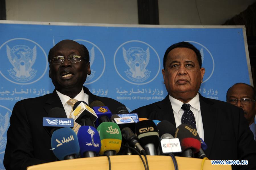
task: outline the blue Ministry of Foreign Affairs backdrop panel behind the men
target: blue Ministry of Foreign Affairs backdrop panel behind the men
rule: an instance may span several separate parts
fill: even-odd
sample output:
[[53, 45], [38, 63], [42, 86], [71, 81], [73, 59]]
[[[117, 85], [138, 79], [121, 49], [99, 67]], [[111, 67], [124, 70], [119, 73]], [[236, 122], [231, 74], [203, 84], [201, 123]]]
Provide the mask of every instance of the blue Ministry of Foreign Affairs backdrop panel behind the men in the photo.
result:
[[48, 52], [61, 40], [75, 40], [88, 48], [92, 73], [84, 85], [95, 95], [120, 101], [129, 111], [166, 97], [162, 60], [165, 50], [176, 42], [188, 41], [200, 50], [206, 72], [199, 92], [204, 97], [225, 101], [234, 83], [252, 85], [243, 26], [2, 20], [0, 35], [1, 169], [13, 106], [22, 99], [52, 93]]

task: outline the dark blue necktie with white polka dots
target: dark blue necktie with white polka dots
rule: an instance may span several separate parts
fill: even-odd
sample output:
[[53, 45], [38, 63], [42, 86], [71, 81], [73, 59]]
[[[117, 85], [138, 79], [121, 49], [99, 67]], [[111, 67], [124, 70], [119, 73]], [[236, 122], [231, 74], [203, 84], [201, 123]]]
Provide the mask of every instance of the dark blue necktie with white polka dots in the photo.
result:
[[184, 113], [181, 117], [181, 123], [189, 124], [196, 129], [196, 120], [193, 112], [190, 110], [190, 104], [183, 103], [181, 109], [184, 110]]

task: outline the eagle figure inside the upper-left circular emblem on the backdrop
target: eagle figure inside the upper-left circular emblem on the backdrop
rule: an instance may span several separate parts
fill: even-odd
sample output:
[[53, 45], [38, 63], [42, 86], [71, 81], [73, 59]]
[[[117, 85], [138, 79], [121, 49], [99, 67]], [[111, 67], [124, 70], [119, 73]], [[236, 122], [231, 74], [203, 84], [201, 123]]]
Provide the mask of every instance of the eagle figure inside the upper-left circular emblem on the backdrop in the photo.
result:
[[17, 45], [12, 49], [6, 45], [6, 52], [9, 62], [13, 65], [13, 68], [8, 70], [13, 79], [26, 82], [35, 77], [36, 71], [31, 67], [36, 61], [36, 46], [31, 50], [25, 45]]

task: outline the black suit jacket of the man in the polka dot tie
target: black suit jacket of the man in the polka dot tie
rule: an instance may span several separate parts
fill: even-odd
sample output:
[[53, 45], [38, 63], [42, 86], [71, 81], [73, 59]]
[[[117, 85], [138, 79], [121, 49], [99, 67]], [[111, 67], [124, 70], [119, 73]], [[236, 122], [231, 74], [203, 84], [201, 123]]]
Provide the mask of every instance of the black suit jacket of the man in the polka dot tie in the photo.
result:
[[[207, 157], [211, 160], [248, 160], [256, 169], [256, 142], [243, 110], [230, 103], [199, 96]], [[150, 120], [168, 120], [176, 127], [169, 95], [132, 112]]]

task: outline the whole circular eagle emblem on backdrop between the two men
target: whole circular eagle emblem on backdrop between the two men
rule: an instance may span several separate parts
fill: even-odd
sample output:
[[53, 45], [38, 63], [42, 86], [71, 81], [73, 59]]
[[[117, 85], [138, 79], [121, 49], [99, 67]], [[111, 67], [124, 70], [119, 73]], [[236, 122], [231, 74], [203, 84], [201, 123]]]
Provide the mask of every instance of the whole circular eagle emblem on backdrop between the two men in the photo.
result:
[[143, 85], [157, 77], [160, 59], [152, 46], [133, 40], [118, 47], [114, 54], [114, 66], [118, 75], [125, 81]]

